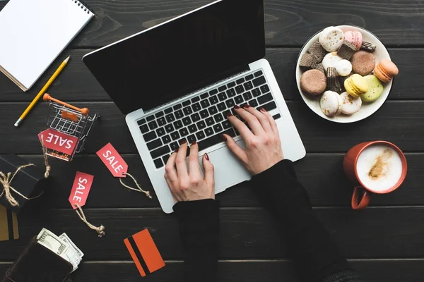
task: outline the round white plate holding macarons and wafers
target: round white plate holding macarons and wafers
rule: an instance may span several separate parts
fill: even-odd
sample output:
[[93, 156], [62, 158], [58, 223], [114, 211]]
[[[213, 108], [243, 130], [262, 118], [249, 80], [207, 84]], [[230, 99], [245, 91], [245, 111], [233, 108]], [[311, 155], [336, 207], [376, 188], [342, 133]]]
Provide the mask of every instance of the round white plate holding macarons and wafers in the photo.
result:
[[[373, 53], [375, 56], [375, 62], [379, 63], [379, 61], [382, 61], [382, 59], [389, 59], [389, 52], [387, 51], [386, 47], [384, 47], [384, 44], [382, 44], [379, 39], [373, 35], [368, 30], [364, 30], [360, 27], [355, 27], [351, 25], [338, 25], [338, 27], [343, 30], [343, 32], [346, 32], [348, 30], [351, 31], [359, 31], [363, 35], [363, 40], [366, 42], [370, 42], [372, 44], [375, 44], [377, 46], [377, 49], [375, 49], [375, 52]], [[298, 83], [298, 89], [300, 92], [300, 95], [302, 96], [303, 100], [307, 104], [307, 106], [310, 107], [312, 111], [314, 111], [315, 114], [318, 116], [321, 116], [322, 118], [325, 118], [329, 121], [334, 121], [335, 123], [354, 123], [355, 121], [363, 120], [364, 118], [367, 118], [368, 116], [371, 116], [374, 114], [381, 106], [384, 104], [384, 101], [386, 101], [387, 97], [389, 96], [389, 92], [391, 90], [391, 84], [393, 83], [393, 80], [389, 83], [383, 83], [384, 91], [381, 97], [377, 99], [375, 102], [363, 102], [363, 106], [360, 108], [360, 110], [353, 114], [352, 116], [346, 116], [346, 115], [338, 115], [338, 116], [326, 116], [321, 110], [321, 107], [319, 106], [319, 97], [312, 97], [309, 94], [303, 93], [300, 89], [300, 76], [302, 76], [302, 71], [299, 68], [300, 58], [302, 58], [302, 55], [307, 52], [307, 49], [310, 48], [312, 43], [318, 41], [319, 39], [319, 33], [312, 36], [311, 39], [307, 41], [305, 46], [302, 48], [299, 54], [298, 63], [296, 63], [296, 82]]]

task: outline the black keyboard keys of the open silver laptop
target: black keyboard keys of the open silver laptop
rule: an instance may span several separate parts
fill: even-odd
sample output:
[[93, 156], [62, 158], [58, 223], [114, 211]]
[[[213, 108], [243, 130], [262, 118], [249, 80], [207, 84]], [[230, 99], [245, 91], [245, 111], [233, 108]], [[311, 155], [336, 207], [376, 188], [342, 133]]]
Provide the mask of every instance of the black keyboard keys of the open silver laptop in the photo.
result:
[[[227, 82], [199, 96], [192, 97], [163, 111], [138, 121], [144, 141], [156, 168], [165, 166], [170, 154], [185, 140], [190, 145], [196, 141], [199, 151], [223, 142], [222, 135], [240, 135], [228, 121], [227, 114], [235, 116], [234, 106], [245, 104], [276, 109], [273, 96], [262, 71]], [[280, 118], [276, 114], [273, 118]], [[189, 149], [187, 149], [187, 155]]]

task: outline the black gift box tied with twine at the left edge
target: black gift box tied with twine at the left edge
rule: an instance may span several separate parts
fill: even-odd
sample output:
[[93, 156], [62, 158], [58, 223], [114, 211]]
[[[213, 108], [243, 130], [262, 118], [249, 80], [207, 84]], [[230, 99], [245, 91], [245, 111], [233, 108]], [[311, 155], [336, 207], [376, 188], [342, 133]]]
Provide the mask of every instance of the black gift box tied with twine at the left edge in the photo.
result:
[[[21, 157], [16, 156], [16, 154], [0, 155], [0, 171], [5, 175], [7, 175], [9, 172], [13, 175], [19, 166], [23, 166], [25, 164], [29, 164], [29, 162]], [[49, 178], [45, 178], [44, 173], [45, 172], [42, 171], [42, 169], [37, 168], [36, 166], [27, 166], [16, 173], [16, 176], [13, 178], [10, 186], [25, 197], [36, 197], [40, 195], [42, 191], [45, 190], [45, 188], [47, 188], [49, 185]], [[4, 187], [0, 184], [0, 194], [3, 192], [3, 190]], [[15, 200], [18, 201], [18, 206], [13, 207], [8, 202], [8, 200], [6, 200], [4, 195], [0, 197], [0, 204], [11, 212], [19, 213], [25, 205], [25, 202], [28, 202], [28, 200], [20, 197], [20, 195], [17, 195], [13, 191], [11, 191], [11, 195], [13, 195]]]

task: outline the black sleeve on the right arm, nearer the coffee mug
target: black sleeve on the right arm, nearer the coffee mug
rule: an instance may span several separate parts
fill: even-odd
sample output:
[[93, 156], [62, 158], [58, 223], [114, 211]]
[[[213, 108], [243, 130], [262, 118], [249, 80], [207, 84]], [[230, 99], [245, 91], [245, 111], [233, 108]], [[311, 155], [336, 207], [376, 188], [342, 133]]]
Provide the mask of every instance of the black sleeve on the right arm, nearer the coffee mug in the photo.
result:
[[259, 201], [281, 224], [302, 281], [359, 282], [319, 222], [292, 161], [283, 160], [250, 181]]

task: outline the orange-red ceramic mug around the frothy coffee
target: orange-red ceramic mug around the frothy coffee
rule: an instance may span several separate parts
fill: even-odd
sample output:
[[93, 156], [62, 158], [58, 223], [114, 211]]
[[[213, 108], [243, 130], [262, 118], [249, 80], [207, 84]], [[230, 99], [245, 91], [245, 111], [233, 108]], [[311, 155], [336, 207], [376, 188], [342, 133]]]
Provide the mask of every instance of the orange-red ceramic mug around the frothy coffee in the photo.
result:
[[[358, 164], [358, 159], [359, 159], [360, 154], [367, 147], [370, 147], [371, 145], [378, 145], [378, 144], [385, 145], [387, 147], [391, 147], [391, 149], [394, 149], [394, 151], [396, 151], [399, 154], [399, 157], [400, 157], [401, 163], [402, 163], [402, 171], [401, 171], [401, 176], [400, 176], [399, 180], [391, 188], [385, 189], [385, 190], [375, 190], [372, 187], [367, 187], [366, 185], [364, 185], [363, 181], [361, 181], [359, 176], [358, 176], [357, 164]], [[351, 180], [353, 183], [358, 185], [358, 186], [355, 186], [355, 188], [353, 189], [352, 208], [353, 209], [365, 209], [368, 206], [368, 204], [370, 204], [372, 193], [387, 194], [387, 193], [393, 192], [394, 190], [399, 188], [399, 186], [401, 186], [401, 184], [404, 182], [404, 180], [406, 178], [406, 171], [408, 169], [407, 167], [408, 167], [408, 165], [406, 163], [406, 157], [405, 157], [404, 153], [401, 151], [401, 149], [399, 149], [399, 147], [396, 147], [396, 145], [392, 144], [391, 142], [387, 142], [387, 141], [363, 142], [363, 143], [360, 143], [360, 144], [352, 147], [346, 153], [346, 156], [343, 159], [343, 171], [344, 171], [346, 177], [349, 180]], [[358, 200], [360, 198], [361, 193], [362, 193], [362, 197], [361, 197], [361, 199], [358, 203]]]

